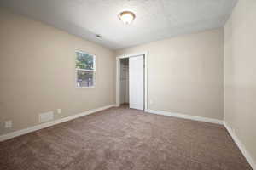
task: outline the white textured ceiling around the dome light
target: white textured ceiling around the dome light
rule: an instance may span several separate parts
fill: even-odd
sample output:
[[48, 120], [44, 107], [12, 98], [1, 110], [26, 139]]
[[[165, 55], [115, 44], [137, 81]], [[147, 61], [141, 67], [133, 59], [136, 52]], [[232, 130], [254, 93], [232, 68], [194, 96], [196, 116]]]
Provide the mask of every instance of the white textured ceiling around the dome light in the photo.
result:
[[[105, 47], [144, 42], [224, 26], [237, 0], [1, 0], [15, 13], [41, 20]], [[131, 10], [125, 26], [117, 17]], [[95, 37], [101, 34], [102, 39]]]

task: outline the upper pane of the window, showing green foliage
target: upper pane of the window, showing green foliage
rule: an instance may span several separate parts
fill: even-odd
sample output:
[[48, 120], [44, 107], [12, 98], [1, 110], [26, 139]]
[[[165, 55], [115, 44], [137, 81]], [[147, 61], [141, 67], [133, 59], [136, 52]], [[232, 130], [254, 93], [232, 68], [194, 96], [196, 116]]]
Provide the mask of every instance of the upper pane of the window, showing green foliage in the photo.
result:
[[76, 52], [76, 68], [77, 69], [94, 69], [94, 56], [90, 54], [84, 54], [82, 52]]

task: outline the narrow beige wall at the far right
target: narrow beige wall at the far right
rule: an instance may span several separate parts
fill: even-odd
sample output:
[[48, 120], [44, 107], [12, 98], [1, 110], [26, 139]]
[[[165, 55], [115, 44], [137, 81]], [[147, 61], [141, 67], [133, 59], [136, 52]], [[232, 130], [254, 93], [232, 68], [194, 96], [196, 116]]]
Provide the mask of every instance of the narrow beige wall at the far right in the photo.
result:
[[255, 0], [237, 3], [224, 33], [224, 121], [256, 163]]

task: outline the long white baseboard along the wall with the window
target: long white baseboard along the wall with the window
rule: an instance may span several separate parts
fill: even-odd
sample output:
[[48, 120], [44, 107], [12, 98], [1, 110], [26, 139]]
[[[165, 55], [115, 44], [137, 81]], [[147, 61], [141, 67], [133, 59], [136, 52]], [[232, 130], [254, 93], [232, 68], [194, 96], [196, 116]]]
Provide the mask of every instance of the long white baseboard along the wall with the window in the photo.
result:
[[3, 134], [3, 135], [0, 136], [0, 142], [2, 142], [3, 140], [15, 138], [17, 136], [20, 136], [20, 135], [23, 135], [23, 134], [26, 134], [26, 133], [32, 133], [32, 132], [37, 131], [39, 129], [42, 129], [42, 128], [45, 128], [45, 127], [50, 127], [50, 126], [59, 124], [61, 122], [67, 122], [67, 121], [79, 118], [81, 116], [90, 115], [90, 114], [95, 113], [97, 111], [103, 111], [103, 110], [106, 110], [106, 109], [108, 109], [110, 107], [114, 107], [114, 106], [115, 105], [103, 106], [103, 107], [100, 107], [100, 108], [97, 108], [97, 109], [84, 111], [82, 113], [79, 113], [79, 114], [76, 114], [76, 115], [73, 115], [73, 116], [67, 116], [67, 117], [52, 121], [52, 122], [45, 122], [45, 123], [38, 124], [38, 125], [33, 126], [33, 127], [27, 127], [27, 128], [24, 128], [24, 129], [21, 129], [21, 130], [12, 132], [12, 133]]

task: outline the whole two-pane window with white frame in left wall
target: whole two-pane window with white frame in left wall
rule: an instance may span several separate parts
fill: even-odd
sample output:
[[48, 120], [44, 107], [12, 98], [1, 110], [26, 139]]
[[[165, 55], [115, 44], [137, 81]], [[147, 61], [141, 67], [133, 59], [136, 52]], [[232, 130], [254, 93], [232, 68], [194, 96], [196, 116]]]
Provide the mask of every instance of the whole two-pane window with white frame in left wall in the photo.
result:
[[96, 59], [95, 55], [76, 52], [76, 88], [95, 86]]

